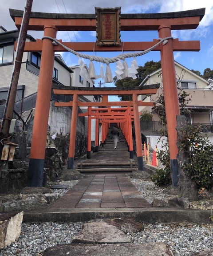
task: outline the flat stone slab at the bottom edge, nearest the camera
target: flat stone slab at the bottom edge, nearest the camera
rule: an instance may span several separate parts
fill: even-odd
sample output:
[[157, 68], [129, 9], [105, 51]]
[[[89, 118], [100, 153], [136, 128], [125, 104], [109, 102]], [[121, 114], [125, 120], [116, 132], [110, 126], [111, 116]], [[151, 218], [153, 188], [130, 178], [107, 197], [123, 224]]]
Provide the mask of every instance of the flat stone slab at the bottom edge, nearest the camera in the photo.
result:
[[64, 244], [47, 248], [42, 256], [174, 256], [165, 243]]

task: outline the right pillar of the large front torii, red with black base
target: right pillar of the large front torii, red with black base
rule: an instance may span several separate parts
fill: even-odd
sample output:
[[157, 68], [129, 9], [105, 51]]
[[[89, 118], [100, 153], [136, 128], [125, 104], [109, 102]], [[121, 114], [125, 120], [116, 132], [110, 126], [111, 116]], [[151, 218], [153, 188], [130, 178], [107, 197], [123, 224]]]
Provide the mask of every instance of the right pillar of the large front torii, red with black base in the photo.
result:
[[[171, 26], [161, 25], [158, 28], [159, 37], [171, 37]], [[161, 66], [163, 78], [163, 93], [166, 110], [166, 123], [170, 147], [170, 163], [172, 171], [172, 185], [177, 187], [178, 163], [177, 163], [177, 115], [180, 115], [177, 81], [174, 66], [173, 41], [169, 40], [161, 47]]]

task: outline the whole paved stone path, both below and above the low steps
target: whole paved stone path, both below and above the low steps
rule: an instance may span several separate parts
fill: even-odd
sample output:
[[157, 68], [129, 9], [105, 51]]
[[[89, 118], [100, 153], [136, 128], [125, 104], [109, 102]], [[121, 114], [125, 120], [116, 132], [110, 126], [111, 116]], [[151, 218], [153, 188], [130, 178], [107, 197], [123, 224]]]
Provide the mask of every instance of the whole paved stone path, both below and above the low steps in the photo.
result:
[[108, 138], [109, 141], [106, 140], [107, 143], [98, 153], [83, 162], [93, 163], [96, 173], [86, 173], [79, 183], [52, 203], [50, 208], [151, 207], [124, 173], [100, 172], [103, 163], [115, 170], [118, 163], [136, 162], [136, 157], [130, 159], [124, 138], [122, 135], [120, 137], [117, 149], [114, 149], [113, 141]]

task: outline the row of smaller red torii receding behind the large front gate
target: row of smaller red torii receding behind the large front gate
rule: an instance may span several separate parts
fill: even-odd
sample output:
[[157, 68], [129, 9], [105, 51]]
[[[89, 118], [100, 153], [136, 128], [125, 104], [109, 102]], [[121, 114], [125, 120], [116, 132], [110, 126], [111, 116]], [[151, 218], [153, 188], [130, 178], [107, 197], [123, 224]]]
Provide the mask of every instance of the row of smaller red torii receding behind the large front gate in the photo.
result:
[[[57, 85], [56, 85], [57, 86]], [[56, 87], [54, 86], [54, 88]], [[120, 123], [122, 131], [126, 135], [126, 141], [130, 150], [130, 158], [133, 158], [133, 142], [132, 142], [132, 118], [134, 119], [134, 127], [136, 134], [136, 147], [138, 158], [138, 170], [143, 171], [143, 157], [142, 157], [142, 143], [141, 143], [141, 130], [138, 115], [138, 106], [154, 106], [153, 102], [138, 101], [138, 95], [142, 94], [155, 94], [159, 85], [147, 85], [144, 87], [129, 87], [129, 88], [85, 88], [85, 87], [72, 87], [59, 86], [60, 89], [53, 89], [55, 94], [73, 95], [72, 102], [55, 102], [55, 106], [72, 106], [72, 118], [71, 118], [71, 139], [68, 154], [68, 169], [74, 168], [74, 154], [75, 154], [75, 134], [77, 125], [77, 113], [78, 106], [88, 106], [88, 134], [87, 134], [87, 158], [91, 158], [91, 119], [96, 118], [96, 149], [98, 148], [98, 121], [102, 122], [102, 143], [106, 139], [110, 122]], [[132, 101], [129, 102], [108, 102], [108, 95], [132, 95]], [[103, 95], [103, 102], [79, 102], [79, 95]], [[92, 106], [104, 106], [104, 108], [93, 108]], [[114, 109], [110, 106], [118, 106]], [[122, 107], [126, 106], [126, 107]], [[107, 107], [107, 108], [106, 108]], [[132, 109], [131, 109], [132, 107]], [[93, 113], [95, 111], [96, 113]], [[98, 113], [97, 113], [98, 111]], [[99, 111], [106, 111], [105, 113], [99, 113]]]

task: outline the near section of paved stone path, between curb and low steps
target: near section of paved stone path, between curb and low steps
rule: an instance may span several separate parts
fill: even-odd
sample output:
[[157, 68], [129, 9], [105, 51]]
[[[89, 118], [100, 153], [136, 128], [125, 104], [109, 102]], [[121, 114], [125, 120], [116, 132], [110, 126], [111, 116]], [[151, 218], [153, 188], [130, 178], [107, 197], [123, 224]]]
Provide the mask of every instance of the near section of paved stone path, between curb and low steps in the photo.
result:
[[125, 174], [87, 174], [51, 208], [151, 207]]

